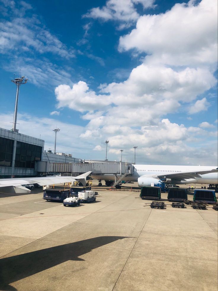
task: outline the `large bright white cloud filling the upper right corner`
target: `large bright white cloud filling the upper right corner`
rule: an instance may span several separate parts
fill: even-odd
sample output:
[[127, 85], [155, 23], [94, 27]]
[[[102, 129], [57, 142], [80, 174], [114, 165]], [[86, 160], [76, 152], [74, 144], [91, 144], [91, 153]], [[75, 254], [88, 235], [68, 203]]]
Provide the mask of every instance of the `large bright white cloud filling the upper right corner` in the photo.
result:
[[120, 37], [119, 49], [136, 49], [147, 61], [170, 65], [217, 61], [217, 1], [175, 4], [158, 15], [143, 15], [136, 28]]

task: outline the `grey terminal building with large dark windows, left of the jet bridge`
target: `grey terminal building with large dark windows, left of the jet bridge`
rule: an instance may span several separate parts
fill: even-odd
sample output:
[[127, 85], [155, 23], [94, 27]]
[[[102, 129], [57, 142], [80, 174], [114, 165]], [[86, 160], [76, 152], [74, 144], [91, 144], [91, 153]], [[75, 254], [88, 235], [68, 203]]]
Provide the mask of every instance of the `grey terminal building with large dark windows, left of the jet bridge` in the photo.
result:
[[80, 163], [70, 154], [44, 151], [44, 140], [0, 128], [0, 178], [39, 176], [38, 162]]

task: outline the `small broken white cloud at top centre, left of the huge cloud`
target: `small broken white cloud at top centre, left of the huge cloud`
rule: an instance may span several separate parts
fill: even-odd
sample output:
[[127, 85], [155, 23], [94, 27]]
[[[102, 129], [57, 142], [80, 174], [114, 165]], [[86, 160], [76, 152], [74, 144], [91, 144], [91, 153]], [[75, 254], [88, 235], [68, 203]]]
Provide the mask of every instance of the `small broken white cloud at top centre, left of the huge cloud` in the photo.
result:
[[83, 17], [101, 19], [103, 21], [117, 20], [121, 24], [119, 29], [132, 25], [138, 18], [139, 14], [135, 4], [141, 3], [145, 8], [153, 8], [155, 0], [108, 0], [102, 8], [95, 7], [90, 9]]

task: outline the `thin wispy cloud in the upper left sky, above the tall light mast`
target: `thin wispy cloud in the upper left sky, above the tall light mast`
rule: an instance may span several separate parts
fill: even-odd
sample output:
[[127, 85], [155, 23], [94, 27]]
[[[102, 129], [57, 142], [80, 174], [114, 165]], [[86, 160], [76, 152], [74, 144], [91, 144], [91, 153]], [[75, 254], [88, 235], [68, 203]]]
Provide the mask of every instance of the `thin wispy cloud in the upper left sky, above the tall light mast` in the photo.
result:
[[[21, 2], [21, 6], [19, 2], [21, 9], [22, 7], [25, 10], [27, 8], [31, 9], [29, 4], [24, 1]], [[18, 12], [21, 13], [20, 10]], [[40, 54], [49, 52], [59, 55], [61, 58], [75, 57], [74, 49], [72, 47], [68, 48], [54, 34], [51, 34], [36, 15], [33, 14], [31, 18], [24, 18], [19, 13], [18, 17], [14, 17], [16, 13], [13, 13], [12, 20], [0, 24], [0, 53], [11, 55], [13, 53], [14, 56], [15, 54], [22, 54], [23, 49], [25, 49]]]

